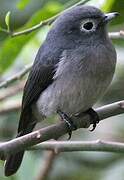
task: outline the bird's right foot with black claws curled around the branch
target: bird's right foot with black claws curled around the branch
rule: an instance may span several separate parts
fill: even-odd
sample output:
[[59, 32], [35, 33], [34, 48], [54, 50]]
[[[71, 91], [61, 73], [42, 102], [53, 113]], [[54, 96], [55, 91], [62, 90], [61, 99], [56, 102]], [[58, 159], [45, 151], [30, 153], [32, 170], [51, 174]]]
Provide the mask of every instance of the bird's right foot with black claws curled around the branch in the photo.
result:
[[90, 115], [91, 124], [93, 124], [93, 128], [90, 131], [94, 131], [96, 128], [96, 125], [99, 123], [99, 116], [92, 108], [85, 111], [85, 113]]

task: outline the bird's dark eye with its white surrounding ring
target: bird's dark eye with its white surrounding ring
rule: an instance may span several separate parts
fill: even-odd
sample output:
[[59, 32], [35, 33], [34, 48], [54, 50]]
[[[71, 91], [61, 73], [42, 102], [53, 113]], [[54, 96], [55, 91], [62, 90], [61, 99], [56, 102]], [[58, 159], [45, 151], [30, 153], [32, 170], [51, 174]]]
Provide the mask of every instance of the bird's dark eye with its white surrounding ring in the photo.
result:
[[87, 19], [81, 22], [80, 29], [84, 32], [93, 32], [96, 30], [96, 24], [93, 20]]

